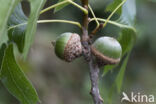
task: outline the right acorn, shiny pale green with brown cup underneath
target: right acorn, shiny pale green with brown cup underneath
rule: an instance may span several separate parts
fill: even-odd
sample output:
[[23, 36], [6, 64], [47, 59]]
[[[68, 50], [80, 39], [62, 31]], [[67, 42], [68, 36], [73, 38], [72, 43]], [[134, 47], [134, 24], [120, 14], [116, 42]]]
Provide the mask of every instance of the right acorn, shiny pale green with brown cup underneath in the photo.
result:
[[96, 58], [99, 67], [113, 65], [120, 62], [122, 48], [120, 43], [112, 37], [104, 36], [98, 38], [91, 45], [91, 52]]

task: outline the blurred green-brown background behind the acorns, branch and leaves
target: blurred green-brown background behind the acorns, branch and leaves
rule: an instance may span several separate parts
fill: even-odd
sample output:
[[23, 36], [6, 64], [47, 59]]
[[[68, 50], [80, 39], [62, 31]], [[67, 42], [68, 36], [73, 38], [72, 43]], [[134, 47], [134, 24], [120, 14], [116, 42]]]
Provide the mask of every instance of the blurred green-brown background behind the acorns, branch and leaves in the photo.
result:
[[[110, 0], [91, 0], [91, 6], [97, 17], [106, 18], [110, 14], [105, 12], [109, 2]], [[54, 3], [56, 0], [47, 0], [45, 7]], [[25, 14], [28, 15], [29, 4], [27, 2], [22, 4]], [[136, 8], [137, 41], [127, 65], [122, 91], [127, 94], [131, 92], [152, 94], [156, 97], [156, 1], [136, 0]], [[114, 15], [112, 20], [118, 17]], [[42, 14], [40, 19], [66, 19], [81, 22], [82, 12], [69, 5], [55, 14], [53, 10], [48, 11]], [[93, 22], [90, 30], [94, 27]], [[39, 24], [28, 61], [24, 62], [17, 57], [18, 63], [38, 92], [41, 100], [39, 104], [93, 104], [89, 95], [89, 68], [83, 58], [72, 63], [63, 62], [55, 56], [51, 45], [51, 41], [55, 40], [59, 34], [69, 31], [81, 34], [79, 28], [70, 24]], [[117, 34], [119, 34], [118, 28], [108, 25], [98, 33], [97, 37], [102, 35], [116, 37]], [[115, 90], [110, 90], [118, 71], [118, 69], [112, 70], [104, 77], [102, 77], [103, 70], [100, 72], [99, 86], [105, 102], [110, 101], [110, 94], [113, 94], [112, 103], [121, 104], [122, 95]], [[19, 104], [1, 82], [0, 104]], [[125, 104], [129, 103], [125, 102]]]

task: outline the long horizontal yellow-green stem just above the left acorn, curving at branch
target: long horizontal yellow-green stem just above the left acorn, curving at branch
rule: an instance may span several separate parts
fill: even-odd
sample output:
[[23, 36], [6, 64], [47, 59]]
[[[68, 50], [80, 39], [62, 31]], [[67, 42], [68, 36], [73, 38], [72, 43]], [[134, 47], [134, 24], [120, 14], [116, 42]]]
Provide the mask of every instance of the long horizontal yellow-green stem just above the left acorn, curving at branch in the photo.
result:
[[[38, 20], [37, 21], [38, 24], [41, 24], [41, 23], [54, 23], [54, 22], [73, 24], [73, 25], [78, 26], [79, 28], [82, 28], [81, 24], [79, 22], [69, 21], [69, 20]], [[23, 25], [26, 25], [26, 24], [27, 23], [22, 23], [22, 24], [18, 24], [18, 25], [15, 25], [15, 26], [11, 26], [11, 27], [9, 27], [8, 30], [16, 28], [16, 27], [23, 26]]]

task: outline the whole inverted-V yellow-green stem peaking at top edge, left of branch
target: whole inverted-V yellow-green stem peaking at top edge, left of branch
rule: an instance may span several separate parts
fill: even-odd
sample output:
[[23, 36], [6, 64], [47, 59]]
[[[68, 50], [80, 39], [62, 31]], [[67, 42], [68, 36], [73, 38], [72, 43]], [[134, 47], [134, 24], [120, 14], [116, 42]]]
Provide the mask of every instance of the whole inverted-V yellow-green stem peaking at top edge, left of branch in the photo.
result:
[[74, 5], [74, 6], [76, 6], [77, 8], [79, 8], [80, 10], [82, 10], [85, 14], [88, 14], [88, 11], [87, 11], [85, 8], [83, 8], [82, 6], [76, 4], [76, 3], [73, 2], [72, 0], [64, 0], [64, 1], [62, 1], [62, 2], [59, 2], [59, 3], [57, 3], [57, 4], [54, 4], [54, 5], [50, 6], [50, 7], [45, 8], [44, 10], [42, 10], [42, 11], [40, 12], [40, 14], [45, 13], [45, 12], [49, 11], [50, 9], [53, 9], [53, 8], [55, 8], [55, 7], [57, 7], [57, 6], [60, 6], [60, 5], [65, 4], [65, 3], [70, 3], [70, 4]]

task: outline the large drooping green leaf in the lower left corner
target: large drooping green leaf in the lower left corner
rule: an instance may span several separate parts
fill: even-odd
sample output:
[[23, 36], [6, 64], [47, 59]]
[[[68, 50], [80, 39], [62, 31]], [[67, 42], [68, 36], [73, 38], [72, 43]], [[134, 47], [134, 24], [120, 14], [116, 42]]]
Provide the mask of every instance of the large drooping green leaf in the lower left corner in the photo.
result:
[[36, 104], [39, 100], [35, 89], [15, 61], [13, 44], [5, 50], [0, 79], [8, 91], [22, 104]]

